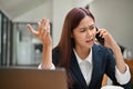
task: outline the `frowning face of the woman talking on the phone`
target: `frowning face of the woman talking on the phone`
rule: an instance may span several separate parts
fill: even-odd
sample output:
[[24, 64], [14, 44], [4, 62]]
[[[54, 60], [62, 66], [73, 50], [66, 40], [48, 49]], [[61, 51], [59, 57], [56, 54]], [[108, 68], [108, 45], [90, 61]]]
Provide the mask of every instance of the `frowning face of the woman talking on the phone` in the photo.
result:
[[95, 33], [96, 29], [93, 19], [85, 16], [73, 30], [72, 38], [75, 41], [75, 48], [90, 49], [94, 43]]

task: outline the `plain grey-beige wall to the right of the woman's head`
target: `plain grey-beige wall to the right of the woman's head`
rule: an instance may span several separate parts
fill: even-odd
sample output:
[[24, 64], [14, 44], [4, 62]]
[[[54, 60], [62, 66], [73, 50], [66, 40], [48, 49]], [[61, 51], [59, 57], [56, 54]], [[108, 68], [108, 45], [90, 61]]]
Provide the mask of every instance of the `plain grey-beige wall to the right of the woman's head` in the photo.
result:
[[133, 0], [95, 0], [90, 9], [99, 28], [108, 29], [120, 44], [133, 49]]

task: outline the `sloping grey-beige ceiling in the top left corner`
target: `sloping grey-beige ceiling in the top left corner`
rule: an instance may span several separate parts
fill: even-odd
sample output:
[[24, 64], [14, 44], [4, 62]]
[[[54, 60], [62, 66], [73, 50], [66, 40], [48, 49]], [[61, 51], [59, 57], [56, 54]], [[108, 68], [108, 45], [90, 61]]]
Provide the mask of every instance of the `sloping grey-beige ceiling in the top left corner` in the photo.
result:
[[0, 0], [0, 10], [10, 19], [34, 9], [47, 0]]

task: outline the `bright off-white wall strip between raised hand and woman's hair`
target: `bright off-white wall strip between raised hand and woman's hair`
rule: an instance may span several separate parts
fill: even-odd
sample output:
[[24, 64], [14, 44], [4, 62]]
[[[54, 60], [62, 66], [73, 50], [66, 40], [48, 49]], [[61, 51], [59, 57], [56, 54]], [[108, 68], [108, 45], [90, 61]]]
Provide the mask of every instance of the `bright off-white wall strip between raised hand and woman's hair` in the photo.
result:
[[71, 8], [72, 0], [53, 0], [53, 47], [60, 40], [64, 17]]

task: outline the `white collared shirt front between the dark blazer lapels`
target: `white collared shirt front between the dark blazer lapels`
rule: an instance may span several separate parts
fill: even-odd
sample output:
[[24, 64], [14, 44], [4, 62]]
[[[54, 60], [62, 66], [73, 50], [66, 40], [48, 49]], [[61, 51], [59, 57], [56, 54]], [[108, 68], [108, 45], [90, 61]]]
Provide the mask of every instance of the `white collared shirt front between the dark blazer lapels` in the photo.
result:
[[[74, 49], [73, 49], [74, 50]], [[83, 77], [84, 77], [84, 79], [85, 79], [85, 81], [86, 81], [86, 85], [89, 85], [90, 83], [90, 81], [91, 81], [91, 76], [92, 76], [92, 49], [91, 49], [91, 51], [90, 51], [90, 53], [89, 53], [89, 56], [84, 59], [84, 60], [82, 60], [79, 56], [78, 56], [78, 53], [76, 53], [76, 51], [74, 50], [74, 53], [75, 53], [75, 57], [76, 57], [76, 59], [78, 59], [78, 63], [79, 63], [79, 66], [80, 66], [80, 69], [81, 69], [81, 71], [82, 71], [82, 75], [83, 75]]]

